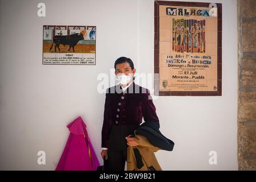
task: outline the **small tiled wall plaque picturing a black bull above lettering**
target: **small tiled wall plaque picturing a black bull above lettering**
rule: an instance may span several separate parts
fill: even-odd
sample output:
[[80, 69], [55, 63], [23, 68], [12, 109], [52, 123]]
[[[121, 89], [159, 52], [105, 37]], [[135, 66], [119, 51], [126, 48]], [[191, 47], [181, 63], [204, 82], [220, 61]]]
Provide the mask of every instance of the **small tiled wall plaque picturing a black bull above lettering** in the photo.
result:
[[43, 26], [43, 64], [95, 65], [95, 26]]

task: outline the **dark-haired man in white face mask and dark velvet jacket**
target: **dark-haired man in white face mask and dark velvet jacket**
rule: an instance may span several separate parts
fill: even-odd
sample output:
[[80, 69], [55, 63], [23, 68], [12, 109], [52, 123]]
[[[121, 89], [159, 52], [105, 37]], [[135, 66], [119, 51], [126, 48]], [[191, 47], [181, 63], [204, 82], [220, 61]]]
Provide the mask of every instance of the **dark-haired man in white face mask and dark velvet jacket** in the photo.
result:
[[130, 134], [142, 122], [159, 119], [155, 106], [146, 88], [134, 83], [133, 61], [119, 57], [114, 64], [119, 84], [107, 89], [102, 126], [101, 156], [108, 160], [108, 169], [124, 171], [127, 159], [127, 144], [137, 146]]

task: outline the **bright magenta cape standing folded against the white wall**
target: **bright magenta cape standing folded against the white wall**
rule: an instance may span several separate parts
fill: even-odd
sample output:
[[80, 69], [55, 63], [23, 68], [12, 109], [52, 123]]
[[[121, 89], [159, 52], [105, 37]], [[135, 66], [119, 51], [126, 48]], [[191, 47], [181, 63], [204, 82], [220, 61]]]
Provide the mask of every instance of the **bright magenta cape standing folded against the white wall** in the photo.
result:
[[67, 125], [70, 134], [56, 171], [96, 171], [99, 161], [95, 155], [86, 125], [79, 116]]

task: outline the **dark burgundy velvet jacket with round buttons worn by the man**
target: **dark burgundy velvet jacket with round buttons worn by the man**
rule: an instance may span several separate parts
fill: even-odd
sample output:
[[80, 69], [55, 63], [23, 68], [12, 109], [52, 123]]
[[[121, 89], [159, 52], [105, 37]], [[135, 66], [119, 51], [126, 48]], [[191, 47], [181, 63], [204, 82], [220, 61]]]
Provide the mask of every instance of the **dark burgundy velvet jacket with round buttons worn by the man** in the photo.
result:
[[148, 89], [134, 82], [122, 91], [121, 85], [106, 90], [105, 110], [102, 126], [101, 147], [108, 147], [109, 135], [113, 125], [139, 125], [144, 121], [159, 124], [155, 106]]

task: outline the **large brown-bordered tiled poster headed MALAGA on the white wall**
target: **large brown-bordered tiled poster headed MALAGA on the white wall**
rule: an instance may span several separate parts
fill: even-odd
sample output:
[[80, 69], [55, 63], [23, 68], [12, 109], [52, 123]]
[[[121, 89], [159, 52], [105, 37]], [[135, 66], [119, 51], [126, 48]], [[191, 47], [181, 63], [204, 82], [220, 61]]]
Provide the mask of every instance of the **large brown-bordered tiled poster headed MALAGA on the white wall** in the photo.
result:
[[221, 96], [222, 4], [155, 1], [156, 96]]

